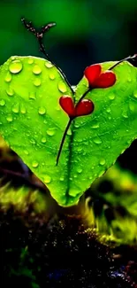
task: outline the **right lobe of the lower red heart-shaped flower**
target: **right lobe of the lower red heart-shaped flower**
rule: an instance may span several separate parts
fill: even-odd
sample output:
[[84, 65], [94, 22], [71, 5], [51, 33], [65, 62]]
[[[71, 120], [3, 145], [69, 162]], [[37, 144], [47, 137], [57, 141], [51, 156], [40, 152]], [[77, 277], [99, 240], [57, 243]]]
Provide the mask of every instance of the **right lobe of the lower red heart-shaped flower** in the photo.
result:
[[91, 100], [83, 99], [75, 106], [75, 117], [91, 114], [94, 111], [94, 104]]

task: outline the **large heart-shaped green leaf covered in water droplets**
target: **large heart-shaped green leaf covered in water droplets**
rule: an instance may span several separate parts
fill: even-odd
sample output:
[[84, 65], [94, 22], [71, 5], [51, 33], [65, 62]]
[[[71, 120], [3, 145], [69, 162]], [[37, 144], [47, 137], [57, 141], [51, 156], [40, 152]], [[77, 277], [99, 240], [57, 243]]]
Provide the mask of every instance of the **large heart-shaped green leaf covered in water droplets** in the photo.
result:
[[[103, 63], [103, 70], [113, 64]], [[136, 68], [124, 62], [113, 71], [117, 75], [114, 86], [88, 93], [95, 111], [72, 122], [56, 166], [68, 122], [59, 98], [72, 96], [72, 91], [45, 59], [14, 57], [1, 66], [0, 133], [61, 206], [76, 204], [137, 136]], [[75, 100], [86, 90], [84, 77]]]

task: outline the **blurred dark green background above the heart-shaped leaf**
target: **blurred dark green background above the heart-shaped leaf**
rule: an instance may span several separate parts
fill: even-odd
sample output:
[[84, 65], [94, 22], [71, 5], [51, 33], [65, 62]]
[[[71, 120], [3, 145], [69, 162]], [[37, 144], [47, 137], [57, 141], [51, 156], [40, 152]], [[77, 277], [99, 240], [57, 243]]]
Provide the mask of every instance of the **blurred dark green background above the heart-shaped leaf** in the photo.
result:
[[72, 84], [89, 64], [137, 51], [136, 0], [1, 0], [0, 64], [15, 54], [41, 56], [34, 35], [20, 22], [22, 16], [36, 27], [57, 22], [44, 40]]

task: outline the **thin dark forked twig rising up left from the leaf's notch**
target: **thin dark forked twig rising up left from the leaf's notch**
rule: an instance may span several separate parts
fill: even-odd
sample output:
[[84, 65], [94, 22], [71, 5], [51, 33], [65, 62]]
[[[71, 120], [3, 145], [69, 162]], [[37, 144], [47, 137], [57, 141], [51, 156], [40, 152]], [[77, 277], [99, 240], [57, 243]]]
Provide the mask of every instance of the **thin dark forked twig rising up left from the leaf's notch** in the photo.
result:
[[65, 79], [65, 82], [67, 83], [67, 85], [69, 86], [70, 90], [72, 91], [72, 95], [74, 95], [74, 90], [72, 89], [72, 86], [70, 84], [70, 82], [68, 82], [64, 72], [61, 70], [60, 67], [58, 67], [53, 61], [51, 61], [49, 54], [46, 52], [45, 50], [45, 46], [42, 43], [43, 40], [43, 35], [45, 33], [47, 33], [49, 31], [49, 29], [51, 27], [55, 27], [56, 23], [49, 23], [45, 26], [42, 26], [42, 28], [40, 29], [40, 32], [36, 31], [36, 29], [34, 28], [34, 25], [32, 24], [32, 22], [27, 22], [26, 19], [22, 18], [21, 19], [22, 23], [24, 24], [24, 26], [27, 28], [27, 31], [30, 31], [34, 34], [34, 36], [36, 36], [36, 39], [39, 43], [40, 46], [40, 51], [42, 52], [42, 54], [53, 64], [53, 66], [57, 67], [57, 70], [60, 72], [60, 74], [63, 76], [63, 78]]

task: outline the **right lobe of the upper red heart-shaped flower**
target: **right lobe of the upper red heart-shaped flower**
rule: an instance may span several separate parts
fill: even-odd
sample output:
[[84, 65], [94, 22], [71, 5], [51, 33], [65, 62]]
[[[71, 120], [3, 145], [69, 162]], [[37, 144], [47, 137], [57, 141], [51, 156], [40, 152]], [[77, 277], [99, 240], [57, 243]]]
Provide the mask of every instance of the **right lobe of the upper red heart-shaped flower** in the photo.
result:
[[108, 88], [116, 82], [116, 75], [112, 71], [104, 71], [92, 84], [93, 88]]

